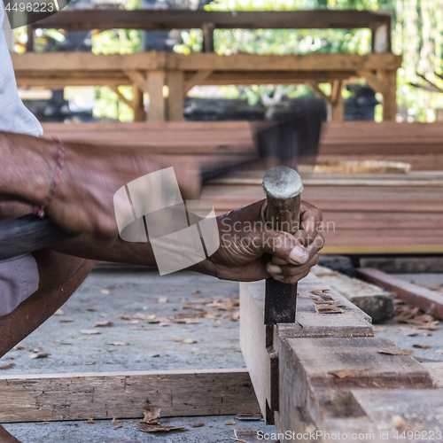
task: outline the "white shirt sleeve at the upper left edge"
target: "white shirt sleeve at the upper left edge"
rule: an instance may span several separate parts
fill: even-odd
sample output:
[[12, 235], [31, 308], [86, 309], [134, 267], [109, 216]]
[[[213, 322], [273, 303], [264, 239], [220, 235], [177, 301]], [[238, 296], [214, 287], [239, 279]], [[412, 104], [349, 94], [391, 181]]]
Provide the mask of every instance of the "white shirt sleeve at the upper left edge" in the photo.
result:
[[3, 23], [3, 1], [0, 0], [0, 131], [41, 136], [42, 125], [19, 98]]

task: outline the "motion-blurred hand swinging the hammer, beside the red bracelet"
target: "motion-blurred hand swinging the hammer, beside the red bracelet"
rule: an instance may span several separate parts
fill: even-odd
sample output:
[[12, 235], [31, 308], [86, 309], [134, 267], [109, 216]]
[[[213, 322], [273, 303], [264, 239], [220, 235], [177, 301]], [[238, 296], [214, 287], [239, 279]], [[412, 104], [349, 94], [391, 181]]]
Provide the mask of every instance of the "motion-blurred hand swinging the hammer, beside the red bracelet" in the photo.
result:
[[[65, 146], [63, 175], [46, 212], [66, 230], [116, 237], [114, 193], [126, 183], [165, 167], [174, 167], [183, 199], [199, 197], [200, 182], [192, 164], [181, 162], [177, 167], [173, 162], [129, 148]], [[150, 198], [150, 191], [146, 190], [147, 198]]]

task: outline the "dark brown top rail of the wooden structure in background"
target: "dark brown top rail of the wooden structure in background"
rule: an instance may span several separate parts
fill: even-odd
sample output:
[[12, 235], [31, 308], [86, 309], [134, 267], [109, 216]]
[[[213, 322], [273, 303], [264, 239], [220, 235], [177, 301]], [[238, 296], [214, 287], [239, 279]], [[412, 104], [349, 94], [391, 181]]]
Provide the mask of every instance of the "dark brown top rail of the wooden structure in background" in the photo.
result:
[[[236, 11], [210, 12], [204, 10], [136, 10], [121, 11], [99, 9], [88, 11], [62, 11], [57, 16], [47, 17], [45, 13], [28, 14], [34, 27], [56, 27], [65, 30], [90, 29], [188, 29], [214, 23], [219, 28], [358, 28], [388, 24], [391, 16], [387, 13], [356, 10], [315, 11]], [[36, 23], [38, 21], [38, 23]]]

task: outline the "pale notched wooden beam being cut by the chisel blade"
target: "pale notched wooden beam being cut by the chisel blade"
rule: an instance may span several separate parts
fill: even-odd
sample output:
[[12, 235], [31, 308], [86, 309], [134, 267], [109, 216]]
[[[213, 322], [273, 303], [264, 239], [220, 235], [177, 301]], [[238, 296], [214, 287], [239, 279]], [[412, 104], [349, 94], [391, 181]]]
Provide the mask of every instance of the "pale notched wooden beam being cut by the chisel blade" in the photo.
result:
[[[324, 289], [344, 307], [342, 315], [319, 315], [309, 291]], [[275, 338], [371, 337], [374, 332], [369, 316], [324, 284], [308, 276], [299, 282], [297, 318], [294, 324], [276, 328], [264, 324], [264, 281], [240, 284], [240, 346], [249, 369], [261, 414], [273, 424], [278, 410], [278, 357]]]

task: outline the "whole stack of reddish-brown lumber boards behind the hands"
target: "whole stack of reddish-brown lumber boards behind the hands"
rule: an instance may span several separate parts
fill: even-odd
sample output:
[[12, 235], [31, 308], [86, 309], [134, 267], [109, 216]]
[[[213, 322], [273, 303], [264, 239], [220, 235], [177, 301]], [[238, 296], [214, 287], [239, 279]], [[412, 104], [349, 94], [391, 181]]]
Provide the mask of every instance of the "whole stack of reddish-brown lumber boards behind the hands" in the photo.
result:
[[[253, 156], [253, 128], [266, 123], [151, 122], [43, 125], [65, 142], [133, 146], [200, 166], [235, 164]], [[412, 164], [408, 174], [318, 174], [302, 198], [323, 211], [323, 253], [443, 252], [443, 127], [438, 124], [325, 125], [319, 161], [389, 159]], [[91, 148], [93, 149], [93, 148]], [[110, 150], [112, 155], [112, 150]], [[422, 165], [421, 170], [420, 165]], [[433, 169], [433, 171], [431, 171]], [[203, 198], [222, 214], [264, 198], [264, 171], [237, 173], [205, 186]]]

